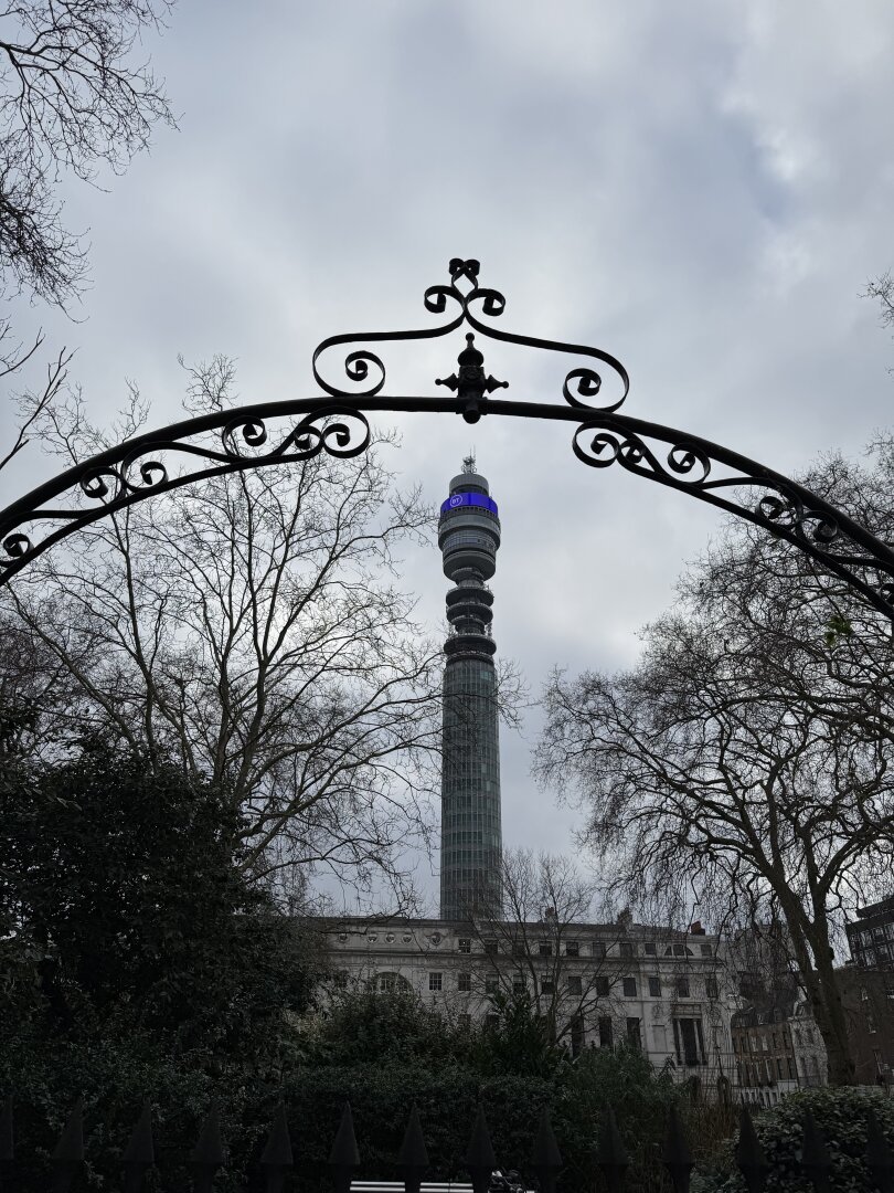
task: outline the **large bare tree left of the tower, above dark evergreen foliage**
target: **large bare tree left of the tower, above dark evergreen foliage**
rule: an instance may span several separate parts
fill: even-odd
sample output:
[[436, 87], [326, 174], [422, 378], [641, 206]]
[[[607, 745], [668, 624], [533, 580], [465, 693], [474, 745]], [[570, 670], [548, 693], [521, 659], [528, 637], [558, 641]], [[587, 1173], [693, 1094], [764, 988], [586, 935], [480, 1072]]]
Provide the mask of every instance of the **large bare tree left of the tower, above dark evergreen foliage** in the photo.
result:
[[[225, 403], [231, 383], [225, 360], [197, 371], [192, 410]], [[44, 419], [57, 449], [101, 446], [69, 413]], [[135, 394], [117, 434], [139, 418]], [[392, 486], [387, 446], [132, 506], [26, 569], [5, 610], [74, 685], [52, 748], [97, 731], [149, 765], [175, 758], [241, 809], [255, 877], [384, 873], [401, 903], [399, 855], [432, 830], [441, 653], [396, 585], [396, 552], [432, 514]]]

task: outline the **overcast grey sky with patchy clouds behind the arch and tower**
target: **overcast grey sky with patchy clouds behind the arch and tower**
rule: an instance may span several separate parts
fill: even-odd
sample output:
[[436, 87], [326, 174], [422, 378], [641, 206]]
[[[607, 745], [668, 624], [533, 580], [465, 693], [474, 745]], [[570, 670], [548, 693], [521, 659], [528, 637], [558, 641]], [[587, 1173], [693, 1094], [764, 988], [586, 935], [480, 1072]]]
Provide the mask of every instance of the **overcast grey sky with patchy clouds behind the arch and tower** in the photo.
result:
[[[92, 288], [79, 322], [24, 307], [18, 326], [77, 347], [95, 420], [135, 378], [162, 425], [178, 353], [236, 357], [246, 402], [311, 396], [323, 336], [424, 324], [426, 286], [477, 256], [502, 326], [625, 363], [625, 413], [782, 471], [857, 453], [894, 401], [894, 344], [861, 297], [894, 266], [893, 38], [882, 0], [184, 0], [147, 42], [179, 131], [107, 193], [67, 191]], [[423, 346], [409, 391], [443, 394], [461, 346]], [[484, 347], [508, 396], [561, 403], [561, 372]], [[401, 427], [398, 466], [433, 502], [470, 447], [489, 476], [495, 637], [534, 692], [554, 665], [634, 660], [718, 526], [579, 464], [567, 424]], [[0, 478], [4, 502], [42, 468]], [[437, 624], [436, 548], [406, 570]], [[503, 736], [504, 840], [565, 851], [575, 816], [534, 789], [535, 737], [535, 713]]]

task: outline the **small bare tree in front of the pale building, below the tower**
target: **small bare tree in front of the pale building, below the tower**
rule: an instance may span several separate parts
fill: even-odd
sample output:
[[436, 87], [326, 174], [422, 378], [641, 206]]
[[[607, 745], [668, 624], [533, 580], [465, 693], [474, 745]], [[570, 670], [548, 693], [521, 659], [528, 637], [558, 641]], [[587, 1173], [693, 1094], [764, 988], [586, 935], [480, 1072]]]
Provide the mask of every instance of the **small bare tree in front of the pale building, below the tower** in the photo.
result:
[[548, 1038], [576, 1049], [584, 1021], [609, 1015], [616, 1005], [623, 966], [604, 954], [622, 928], [606, 926], [602, 957], [589, 947], [584, 953], [581, 927], [591, 925], [597, 884], [569, 858], [509, 849], [501, 886], [499, 919], [470, 915], [476, 939], [490, 954], [491, 972], [480, 975], [480, 993], [489, 993], [489, 981], [491, 990], [496, 985], [510, 996], [523, 989]]

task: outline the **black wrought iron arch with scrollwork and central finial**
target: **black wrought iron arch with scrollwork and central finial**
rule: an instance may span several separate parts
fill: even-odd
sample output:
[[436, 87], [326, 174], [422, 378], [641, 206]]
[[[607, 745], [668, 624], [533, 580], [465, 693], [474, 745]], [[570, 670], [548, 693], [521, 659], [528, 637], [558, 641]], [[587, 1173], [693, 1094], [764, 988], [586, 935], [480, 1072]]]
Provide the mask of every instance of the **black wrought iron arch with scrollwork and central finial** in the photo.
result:
[[[498, 291], [482, 286], [480, 265], [454, 258], [448, 283], [429, 286], [426, 310], [441, 322], [404, 332], [333, 335], [313, 352], [322, 395], [261, 402], [176, 422], [136, 435], [69, 468], [0, 512], [0, 585], [76, 530], [157, 493], [210, 476], [310, 459], [319, 452], [353, 457], [370, 444], [367, 415], [378, 412], [452, 413], [467, 422], [484, 415], [573, 425], [572, 450], [590, 468], [619, 464], [628, 472], [689, 493], [793, 543], [894, 619], [894, 551], [843, 511], [796, 481], [746, 456], [673, 427], [620, 414], [629, 377], [615, 357], [582, 344], [520, 335], [495, 326], [505, 310]], [[429, 340], [467, 324], [458, 367], [437, 378], [445, 395], [385, 395], [386, 369], [371, 347]], [[492, 340], [583, 358], [561, 385], [564, 404], [491, 395], [505, 389], [484, 369], [476, 333]], [[356, 346], [356, 347], [355, 347]], [[343, 377], [327, 379], [336, 350]], [[329, 375], [331, 376], [331, 375]], [[606, 392], [608, 390], [608, 392]], [[179, 469], [173, 471], [174, 463]]]

